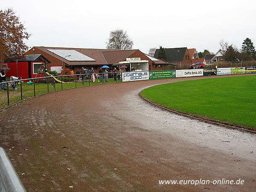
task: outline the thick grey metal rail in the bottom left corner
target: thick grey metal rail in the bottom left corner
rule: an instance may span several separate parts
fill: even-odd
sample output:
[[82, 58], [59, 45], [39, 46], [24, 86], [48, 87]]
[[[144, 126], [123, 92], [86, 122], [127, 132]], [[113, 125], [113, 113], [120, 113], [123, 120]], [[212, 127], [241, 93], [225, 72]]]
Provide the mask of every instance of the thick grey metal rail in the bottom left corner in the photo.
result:
[[0, 192], [26, 192], [2, 147], [0, 147]]

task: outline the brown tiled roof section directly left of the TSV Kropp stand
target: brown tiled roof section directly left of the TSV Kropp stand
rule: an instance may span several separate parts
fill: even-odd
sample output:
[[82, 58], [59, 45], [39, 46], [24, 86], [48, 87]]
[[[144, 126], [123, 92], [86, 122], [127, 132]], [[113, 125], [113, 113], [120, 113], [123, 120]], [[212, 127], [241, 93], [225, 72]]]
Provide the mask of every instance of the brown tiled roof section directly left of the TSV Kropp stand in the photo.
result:
[[139, 49], [134, 50], [118, 50], [118, 51], [102, 51], [102, 55], [108, 64], [118, 64], [120, 61], [125, 61], [134, 52]]

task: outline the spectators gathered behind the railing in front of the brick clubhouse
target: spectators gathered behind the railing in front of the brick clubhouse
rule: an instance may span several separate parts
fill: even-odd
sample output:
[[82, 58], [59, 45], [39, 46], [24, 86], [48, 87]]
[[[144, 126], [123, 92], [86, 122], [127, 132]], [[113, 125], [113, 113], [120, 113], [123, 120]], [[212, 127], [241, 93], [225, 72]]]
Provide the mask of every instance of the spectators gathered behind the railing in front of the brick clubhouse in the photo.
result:
[[[122, 80], [122, 72], [124, 72], [123, 69], [120, 69], [118, 71], [116, 69], [116, 67], [114, 67], [114, 69], [112, 70], [114, 81], [116, 81], [117, 77], [118, 77], [118, 80]], [[108, 82], [108, 73], [109, 72], [108, 72], [107, 68], [105, 68], [105, 70], [100, 68], [99, 69], [99, 81], [102, 82], [102, 79], [105, 78], [105, 81]], [[93, 68], [91, 68], [91, 70], [84, 69], [84, 67], [82, 67], [81, 69], [77, 69], [77, 71], [76, 71], [77, 81], [80, 80], [80, 75], [81, 75], [82, 84], [84, 84], [85, 78], [92, 79], [93, 82], [96, 79], [96, 77], [95, 77], [96, 73]]]

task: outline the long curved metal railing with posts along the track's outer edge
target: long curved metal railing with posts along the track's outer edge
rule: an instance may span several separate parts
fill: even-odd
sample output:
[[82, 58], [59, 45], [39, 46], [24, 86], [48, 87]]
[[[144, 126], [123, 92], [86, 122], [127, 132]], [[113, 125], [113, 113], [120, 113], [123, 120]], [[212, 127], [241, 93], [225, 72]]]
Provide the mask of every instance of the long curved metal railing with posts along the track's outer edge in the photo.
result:
[[[56, 91], [56, 81], [59, 81], [60, 84], [61, 84], [61, 90], [64, 90], [64, 87], [63, 87], [63, 83], [64, 81], [66, 80], [65, 78], [66, 77], [73, 77], [73, 81], [69, 81], [69, 82], [73, 82], [74, 83], [74, 87], [73, 88], [77, 88], [77, 83], [78, 82], [81, 82], [79, 81], [79, 79], [77, 79], [77, 76], [84, 76], [84, 83], [88, 83], [88, 86], [91, 86], [92, 85], [92, 75], [102, 75], [102, 84], [104, 84], [104, 81], [105, 83], [108, 82], [105, 80], [105, 77], [104, 77], [104, 74], [106, 73], [86, 73], [86, 74], [74, 74], [74, 75], [60, 75], [60, 76], [44, 76], [44, 77], [37, 77], [37, 78], [30, 78], [30, 79], [19, 79], [19, 80], [15, 80], [15, 81], [6, 81], [6, 82], [0, 82], [0, 86], [1, 84], [5, 84], [6, 86], [6, 90], [7, 90], [7, 105], [10, 105], [10, 93], [9, 93], [9, 83], [14, 83], [15, 87], [16, 86], [16, 83], [17, 84], [20, 84], [20, 100], [23, 100], [23, 87], [22, 87], [22, 83], [24, 81], [32, 81], [32, 84], [34, 86], [33, 90], [34, 90], [34, 96], [36, 96], [36, 84], [38, 84], [38, 82], [44, 82], [44, 83], [47, 83], [47, 92], [45, 93], [49, 93], [49, 84], [52, 83], [52, 87], [54, 88], [54, 91]], [[117, 81], [117, 78], [118, 78], [118, 75], [120, 74], [119, 72], [117, 73], [111, 73], [109, 72], [108, 73], [108, 77], [112, 74], [112, 76], [116, 76], [116, 83], [118, 82]], [[95, 77], [96, 78], [96, 77]], [[97, 81], [99, 79], [96, 79]], [[15, 88], [13, 87], [13, 89]], [[0, 107], [1, 108], [1, 107]]]

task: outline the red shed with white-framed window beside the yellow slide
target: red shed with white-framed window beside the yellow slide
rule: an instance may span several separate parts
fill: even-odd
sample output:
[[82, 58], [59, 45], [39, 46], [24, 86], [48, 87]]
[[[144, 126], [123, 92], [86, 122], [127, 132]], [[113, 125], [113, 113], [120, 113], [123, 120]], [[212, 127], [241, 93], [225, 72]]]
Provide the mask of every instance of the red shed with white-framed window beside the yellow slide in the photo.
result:
[[[26, 55], [24, 59], [19, 61], [8, 61], [6, 67], [10, 70], [6, 70], [6, 77], [16, 76], [19, 79], [35, 78], [39, 72], [40, 67], [50, 61], [43, 55]], [[42, 72], [42, 71], [41, 71]], [[37, 77], [44, 77], [44, 73], [38, 74]]]

